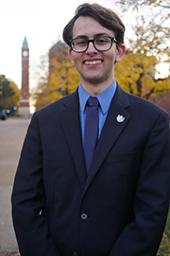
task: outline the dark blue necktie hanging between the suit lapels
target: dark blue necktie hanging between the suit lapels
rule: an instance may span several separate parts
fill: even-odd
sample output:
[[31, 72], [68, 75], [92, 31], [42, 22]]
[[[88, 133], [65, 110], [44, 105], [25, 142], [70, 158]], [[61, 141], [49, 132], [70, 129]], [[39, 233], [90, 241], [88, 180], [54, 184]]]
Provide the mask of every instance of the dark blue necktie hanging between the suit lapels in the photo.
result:
[[84, 131], [84, 155], [88, 174], [98, 138], [98, 100], [97, 98], [90, 97], [87, 103], [89, 108], [87, 110]]

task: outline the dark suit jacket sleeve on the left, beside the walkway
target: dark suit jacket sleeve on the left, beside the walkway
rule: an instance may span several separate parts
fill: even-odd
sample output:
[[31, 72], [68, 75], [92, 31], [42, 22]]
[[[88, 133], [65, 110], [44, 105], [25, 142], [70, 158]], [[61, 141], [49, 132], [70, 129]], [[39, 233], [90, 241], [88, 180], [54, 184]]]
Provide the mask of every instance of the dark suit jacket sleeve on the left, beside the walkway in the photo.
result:
[[22, 256], [59, 256], [46, 219], [42, 182], [42, 144], [34, 114], [27, 130], [11, 195], [13, 226]]

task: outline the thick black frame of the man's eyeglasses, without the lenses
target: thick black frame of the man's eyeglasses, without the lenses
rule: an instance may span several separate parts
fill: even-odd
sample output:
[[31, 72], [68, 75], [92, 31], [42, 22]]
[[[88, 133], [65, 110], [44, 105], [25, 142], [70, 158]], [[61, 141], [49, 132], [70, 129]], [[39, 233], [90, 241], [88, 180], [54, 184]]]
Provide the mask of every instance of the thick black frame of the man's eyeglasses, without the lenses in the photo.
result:
[[79, 39], [79, 38], [76, 37], [76, 38], [70, 39], [69, 41], [70, 41], [71, 49], [72, 49], [73, 51], [75, 51], [76, 53], [85, 52], [85, 51], [88, 49], [89, 44], [92, 42], [92, 43], [93, 43], [93, 47], [94, 47], [96, 50], [98, 50], [98, 51], [107, 51], [107, 50], [110, 50], [113, 41], [114, 41], [115, 44], [117, 44], [117, 39], [116, 39], [115, 37], [111, 37], [111, 36], [101, 36], [101, 37], [102, 37], [102, 38], [103, 38], [103, 37], [104, 37], [104, 38], [110, 38], [110, 47], [109, 47], [108, 49], [104, 49], [104, 50], [97, 49], [97, 47], [96, 47], [95, 44], [94, 44], [94, 40], [96, 40], [98, 37], [95, 37], [94, 39], [90, 39], [90, 40], [85, 39], [85, 40], [87, 41], [87, 47], [86, 47], [84, 50], [81, 50], [81, 51], [76, 51], [76, 50], [74, 49], [74, 46], [73, 46], [74, 40]]

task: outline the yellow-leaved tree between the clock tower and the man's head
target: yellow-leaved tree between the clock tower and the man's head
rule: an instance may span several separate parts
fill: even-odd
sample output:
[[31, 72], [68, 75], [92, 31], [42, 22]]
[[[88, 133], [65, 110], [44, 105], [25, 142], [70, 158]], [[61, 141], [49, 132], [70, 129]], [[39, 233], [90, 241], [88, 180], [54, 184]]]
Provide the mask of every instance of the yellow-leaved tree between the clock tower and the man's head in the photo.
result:
[[38, 84], [32, 94], [34, 95], [36, 110], [71, 94], [76, 90], [79, 82], [76, 67], [68, 57], [68, 48], [59, 47], [59, 51], [55, 51], [48, 65], [46, 64], [46, 57], [43, 56], [41, 58], [41, 62], [37, 65], [37, 71], [35, 72]]

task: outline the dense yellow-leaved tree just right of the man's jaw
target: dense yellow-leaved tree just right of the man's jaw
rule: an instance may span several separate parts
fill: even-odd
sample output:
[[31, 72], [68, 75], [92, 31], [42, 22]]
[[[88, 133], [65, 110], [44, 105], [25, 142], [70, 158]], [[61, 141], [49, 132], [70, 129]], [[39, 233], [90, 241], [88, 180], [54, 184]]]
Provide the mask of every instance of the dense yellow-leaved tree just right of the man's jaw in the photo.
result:
[[121, 63], [116, 64], [115, 78], [129, 93], [148, 100], [151, 95], [160, 95], [170, 90], [170, 79], [155, 79], [155, 56], [127, 50]]

